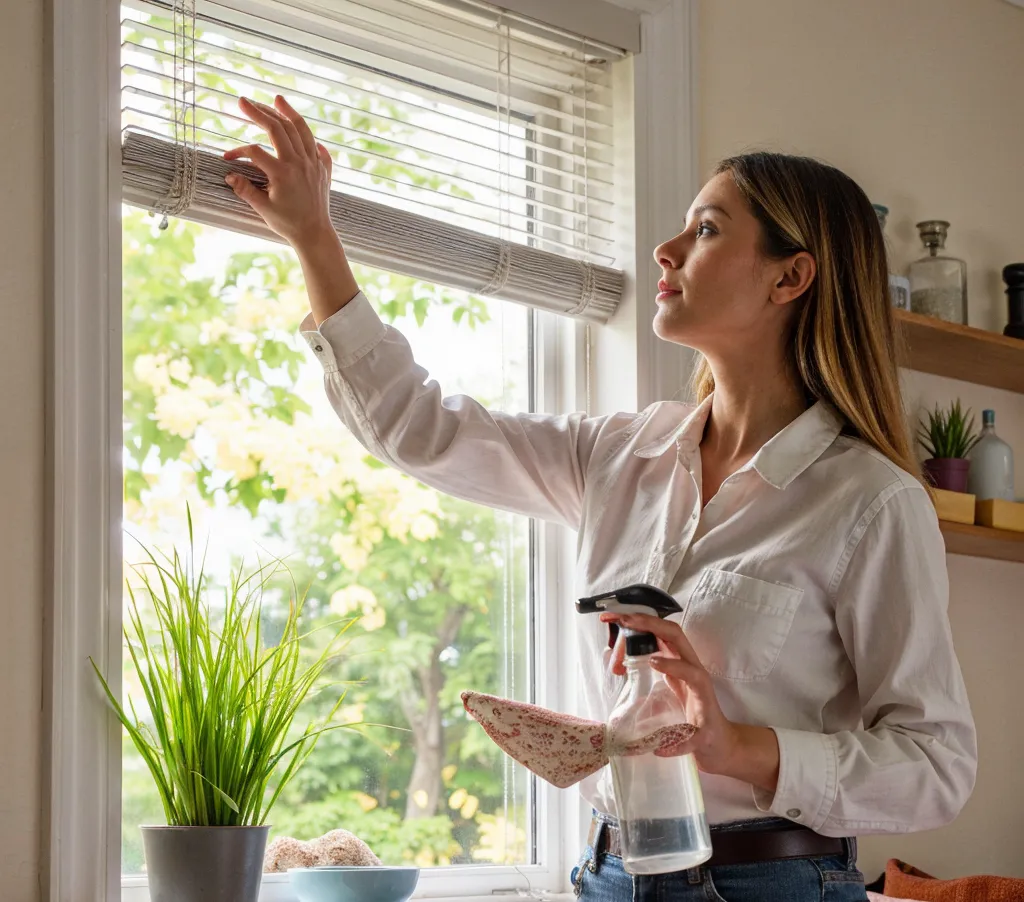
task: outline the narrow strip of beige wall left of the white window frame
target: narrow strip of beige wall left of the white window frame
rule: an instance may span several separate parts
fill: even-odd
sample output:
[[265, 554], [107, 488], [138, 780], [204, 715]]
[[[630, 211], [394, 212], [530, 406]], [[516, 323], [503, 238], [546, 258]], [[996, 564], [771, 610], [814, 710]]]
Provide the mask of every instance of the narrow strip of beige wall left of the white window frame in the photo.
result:
[[39, 897], [43, 618], [43, 2], [0, 28], [0, 897]]

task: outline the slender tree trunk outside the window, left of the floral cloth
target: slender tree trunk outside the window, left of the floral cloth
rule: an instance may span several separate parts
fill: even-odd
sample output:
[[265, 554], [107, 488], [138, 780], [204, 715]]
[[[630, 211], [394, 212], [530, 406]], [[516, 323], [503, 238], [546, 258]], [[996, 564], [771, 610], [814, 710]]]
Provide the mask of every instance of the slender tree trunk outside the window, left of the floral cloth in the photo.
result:
[[416, 761], [406, 793], [406, 819], [433, 817], [441, 798], [441, 770], [444, 767], [444, 725], [441, 720], [440, 694], [444, 672], [440, 655], [459, 635], [468, 609], [462, 606], [447, 611], [438, 632], [430, 660], [416, 673], [418, 692], [401, 698], [401, 710], [413, 731]]

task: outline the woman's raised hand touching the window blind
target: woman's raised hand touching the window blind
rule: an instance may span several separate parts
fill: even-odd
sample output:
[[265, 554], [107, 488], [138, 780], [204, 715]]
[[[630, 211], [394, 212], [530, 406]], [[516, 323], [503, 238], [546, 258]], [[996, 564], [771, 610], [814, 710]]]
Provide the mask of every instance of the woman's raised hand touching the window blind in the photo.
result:
[[[316, 142], [306, 121], [280, 94], [273, 106], [243, 97], [242, 113], [270, 136], [278, 156], [259, 144], [246, 144], [224, 154], [225, 160], [249, 160], [267, 177], [266, 189], [244, 175], [225, 181], [266, 224], [301, 253], [304, 247], [333, 237], [329, 198], [331, 155]], [[335, 239], [336, 240], [336, 239]]]

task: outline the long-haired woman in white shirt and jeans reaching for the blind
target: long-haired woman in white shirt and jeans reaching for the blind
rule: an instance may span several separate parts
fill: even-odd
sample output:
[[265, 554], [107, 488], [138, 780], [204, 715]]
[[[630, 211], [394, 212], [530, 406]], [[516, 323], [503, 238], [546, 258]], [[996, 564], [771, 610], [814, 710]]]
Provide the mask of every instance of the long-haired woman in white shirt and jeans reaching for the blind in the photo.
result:
[[573, 871], [584, 899], [860, 900], [852, 837], [950, 821], [976, 741], [946, 616], [945, 556], [900, 403], [886, 255], [863, 191], [819, 163], [722, 163], [654, 254], [656, 334], [701, 352], [694, 407], [509, 416], [442, 398], [378, 319], [328, 216], [331, 161], [283, 98], [242, 103], [269, 133], [228, 152], [267, 175], [237, 194], [298, 253], [339, 417], [442, 491], [579, 530], [578, 592], [671, 592], [677, 622], [580, 618], [586, 714], [622, 674], [618, 624], [699, 730], [715, 857], [633, 878], [605, 774]]

